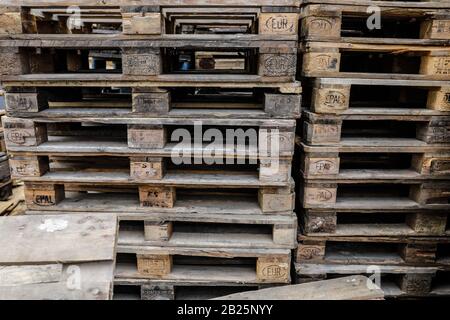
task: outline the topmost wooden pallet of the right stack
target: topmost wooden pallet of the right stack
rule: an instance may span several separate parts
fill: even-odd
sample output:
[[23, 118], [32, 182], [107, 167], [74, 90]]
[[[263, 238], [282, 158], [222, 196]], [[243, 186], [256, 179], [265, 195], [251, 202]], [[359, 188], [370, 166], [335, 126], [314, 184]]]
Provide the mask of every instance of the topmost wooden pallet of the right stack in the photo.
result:
[[[450, 14], [445, 7], [396, 7], [397, 2], [378, 2], [381, 29], [370, 30], [367, 5], [307, 4], [300, 15], [301, 37], [306, 40], [364, 40], [379, 44], [448, 44]], [[439, 2], [441, 4], [441, 2]], [[420, 5], [420, 4], [419, 4]]]

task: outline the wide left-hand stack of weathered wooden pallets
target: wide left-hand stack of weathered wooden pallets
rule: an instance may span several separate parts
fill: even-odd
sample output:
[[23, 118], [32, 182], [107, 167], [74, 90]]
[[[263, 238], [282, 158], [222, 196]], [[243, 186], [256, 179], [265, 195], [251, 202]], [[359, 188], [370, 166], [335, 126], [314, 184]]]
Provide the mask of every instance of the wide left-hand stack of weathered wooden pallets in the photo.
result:
[[294, 1], [81, 7], [76, 28], [56, 2], [0, 10], [28, 214], [116, 213], [116, 298], [290, 283]]

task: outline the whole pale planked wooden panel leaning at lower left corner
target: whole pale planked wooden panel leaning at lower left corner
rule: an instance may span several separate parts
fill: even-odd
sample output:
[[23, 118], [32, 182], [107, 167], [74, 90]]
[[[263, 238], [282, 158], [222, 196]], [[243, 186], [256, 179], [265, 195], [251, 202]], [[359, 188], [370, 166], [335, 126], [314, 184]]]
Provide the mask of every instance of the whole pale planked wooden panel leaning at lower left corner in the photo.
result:
[[0, 220], [0, 300], [107, 300], [117, 217], [20, 216]]

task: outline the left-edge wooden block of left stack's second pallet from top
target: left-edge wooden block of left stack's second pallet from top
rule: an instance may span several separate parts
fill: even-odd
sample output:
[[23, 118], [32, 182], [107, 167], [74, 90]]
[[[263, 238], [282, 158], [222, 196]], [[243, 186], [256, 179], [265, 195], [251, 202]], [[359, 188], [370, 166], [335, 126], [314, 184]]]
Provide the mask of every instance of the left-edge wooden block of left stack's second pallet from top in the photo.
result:
[[0, 75], [22, 75], [29, 72], [30, 64], [24, 49], [0, 47]]

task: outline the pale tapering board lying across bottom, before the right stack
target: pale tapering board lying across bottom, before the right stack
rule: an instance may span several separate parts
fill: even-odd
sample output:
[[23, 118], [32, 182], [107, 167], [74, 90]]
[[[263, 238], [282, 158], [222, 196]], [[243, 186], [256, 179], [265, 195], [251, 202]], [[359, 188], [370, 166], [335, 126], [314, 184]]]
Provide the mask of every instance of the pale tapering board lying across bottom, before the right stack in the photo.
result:
[[283, 287], [230, 294], [213, 300], [374, 300], [383, 299], [378, 287], [369, 288], [368, 278], [351, 276]]

